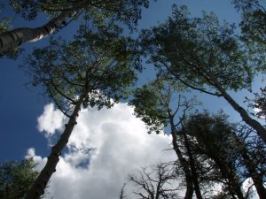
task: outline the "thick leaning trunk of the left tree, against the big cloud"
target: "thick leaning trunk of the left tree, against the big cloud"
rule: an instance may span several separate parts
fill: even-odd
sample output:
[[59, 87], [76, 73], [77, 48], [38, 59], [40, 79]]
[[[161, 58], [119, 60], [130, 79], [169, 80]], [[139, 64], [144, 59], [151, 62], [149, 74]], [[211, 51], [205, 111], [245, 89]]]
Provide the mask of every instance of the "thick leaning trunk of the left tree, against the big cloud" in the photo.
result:
[[79, 112], [81, 111], [82, 103], [84, 101], [85, 95], [81, 95], [80, 99], [74, 106], [74, 111], [66, 124], [66, 128], [63, 134], [61, 134], [59, 141], [51, 148], [51, 154], [47, 159], [47, 163], [44, 166], [42, 172], [40, 172], [38, 178], [35, 180], [34, 185], [28, 191], [25, 199], [38, 199], [44, 194], [44, 189], [46, 188], [48, 181], [51, 178], [53, 172], [56, 172], [56, 166], [59, 163], [59, 156], [62, 149], [66, 147], [66, 143], [74, 126], [76, 125], [76, 119], [78, 118]]

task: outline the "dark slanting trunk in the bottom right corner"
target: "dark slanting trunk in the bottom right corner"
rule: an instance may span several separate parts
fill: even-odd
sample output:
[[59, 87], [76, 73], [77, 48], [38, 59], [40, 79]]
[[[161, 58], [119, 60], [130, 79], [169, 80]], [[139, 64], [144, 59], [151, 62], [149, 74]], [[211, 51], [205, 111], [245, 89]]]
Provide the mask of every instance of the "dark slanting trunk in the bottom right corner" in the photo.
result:
[[233, 137], [237, 142], [237, 145], [239, 146], [239, 153], [243, 157], [248, 174], [254, 182], [254, 187], [256, 188], [257, 194], [259, 195], [260, 199], [264, 199], [266, 195], [266, 188], [264, 188], [263, 186], [263, 175], [256, 171], [256, 166], [254, 162], [251, 161], [248, 156], [248, 151], [246, 149], [245, 143], [241, 142], [235, 134], [233, 134]]

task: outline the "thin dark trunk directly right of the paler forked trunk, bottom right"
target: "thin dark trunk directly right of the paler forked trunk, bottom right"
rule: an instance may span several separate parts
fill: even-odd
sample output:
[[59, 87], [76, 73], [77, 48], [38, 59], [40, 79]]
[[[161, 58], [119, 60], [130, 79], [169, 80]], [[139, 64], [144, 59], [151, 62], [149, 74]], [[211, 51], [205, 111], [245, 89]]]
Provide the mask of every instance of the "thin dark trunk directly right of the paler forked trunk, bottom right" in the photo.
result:
[[192, 156], [192, 150], [190, 148], [190, 144], [189, 144], [187, 135], [185, 134], [184, 128], [183, 128], [183, 135], [184, 135], [184, 146], [185, 146], [185, 149], [187, 150], [187, 155], [188, 155], [189, 160], [190, 160], [190, 166], [191, 166], [191, 170], [192, 170], [192, 180], [193, 180], [193, 184], [194, 184], [195, 193], [196, 193], [196, 196], [198, 199], [203, 199], [201, 192], [200, 192], [199, 177], [198, 177], [198, 173], [196, 171], [194, 158]]

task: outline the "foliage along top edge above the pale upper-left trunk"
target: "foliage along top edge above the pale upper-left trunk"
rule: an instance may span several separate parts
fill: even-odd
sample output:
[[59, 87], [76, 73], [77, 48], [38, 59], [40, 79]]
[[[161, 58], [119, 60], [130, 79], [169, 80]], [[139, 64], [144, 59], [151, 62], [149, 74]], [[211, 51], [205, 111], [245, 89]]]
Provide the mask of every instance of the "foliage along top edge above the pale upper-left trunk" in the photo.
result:
[[61, 11], [85, 11], [86, 18], [101, 23], [103, 21], [120, 21], [129, 26], [136, 27], [137, 20], [141, 18], [141, 8], [149, 6], [148, 0], [109, 0], [109, 1], [67, 1], [67, 0], [10, 0], [15, 11], [22, 17], [33, 20], [39, 12], [59, 15]]

